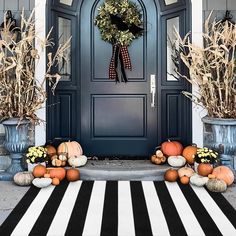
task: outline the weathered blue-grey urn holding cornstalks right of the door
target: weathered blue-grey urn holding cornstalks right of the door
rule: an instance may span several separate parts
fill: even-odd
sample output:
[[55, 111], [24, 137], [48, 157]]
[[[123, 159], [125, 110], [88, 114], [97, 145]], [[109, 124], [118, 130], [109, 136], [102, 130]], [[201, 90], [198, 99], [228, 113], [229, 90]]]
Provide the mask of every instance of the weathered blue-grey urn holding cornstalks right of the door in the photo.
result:
[[203, 145], [219, 153], [222, 165], [236, 169], [236, 119], [220, 119], [205, 116]]

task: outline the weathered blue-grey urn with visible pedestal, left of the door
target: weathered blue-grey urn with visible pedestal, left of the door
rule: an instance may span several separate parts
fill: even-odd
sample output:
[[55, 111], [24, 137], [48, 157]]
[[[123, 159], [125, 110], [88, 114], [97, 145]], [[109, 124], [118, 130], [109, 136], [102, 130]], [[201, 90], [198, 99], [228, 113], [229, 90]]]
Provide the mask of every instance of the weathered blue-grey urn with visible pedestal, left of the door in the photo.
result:
[[4, 148], [10, 153], [11, 165], [0, 174], [0, 180], [12, 180], [17, 172], [24, 168], [21, 165], [22, 154], [29, 147], [29, 120], [11, 118], [2, 122], [5, 128]]

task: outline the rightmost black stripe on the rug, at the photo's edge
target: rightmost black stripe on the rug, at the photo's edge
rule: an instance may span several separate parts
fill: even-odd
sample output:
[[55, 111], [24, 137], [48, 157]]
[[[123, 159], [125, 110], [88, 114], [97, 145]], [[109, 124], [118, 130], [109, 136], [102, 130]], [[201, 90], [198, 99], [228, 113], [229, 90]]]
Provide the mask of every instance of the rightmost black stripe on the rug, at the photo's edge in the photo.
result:
[[230, 223], [234, 226], [234, 228], [236, 228], [236, 211], [232, 207], [232, 205], [225, 199], [225, 197], [221, 193], [210, 192], [207, 188], [206, 190], [210, 194], [212, 199], [216, 202], [216, 204], [219, 206], [221, 211], [228, 218]]

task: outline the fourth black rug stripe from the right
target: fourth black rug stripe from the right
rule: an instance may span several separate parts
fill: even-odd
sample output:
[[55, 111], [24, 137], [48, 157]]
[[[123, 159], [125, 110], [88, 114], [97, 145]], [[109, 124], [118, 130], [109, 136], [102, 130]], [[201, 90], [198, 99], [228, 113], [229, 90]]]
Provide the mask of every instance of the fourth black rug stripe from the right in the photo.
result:
[[151, 223], [149, 220], [142, 183], [140, 181], [131, 181], [130, 191], [132, 197], [135, 234], [137, 236], [152, 235]]

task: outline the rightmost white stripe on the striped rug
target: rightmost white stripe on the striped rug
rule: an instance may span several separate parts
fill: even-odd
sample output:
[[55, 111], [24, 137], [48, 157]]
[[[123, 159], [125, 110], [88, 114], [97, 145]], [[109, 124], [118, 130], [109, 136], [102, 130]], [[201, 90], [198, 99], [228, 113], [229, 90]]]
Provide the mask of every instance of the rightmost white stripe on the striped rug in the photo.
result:
[[210, 214], [213, 221], [216, 223], [220, 232], [223, 235], [236, 235], [236, 229], [230, 223], [230, 221], [227, 219], [221, 209], [218, 207], [216, 202], [211, 198], [209, 193], [204, 188], [198, 188], [192, 185], [191, 187], [204, 205], [207, 212]]

